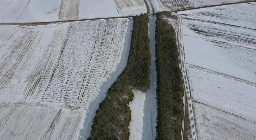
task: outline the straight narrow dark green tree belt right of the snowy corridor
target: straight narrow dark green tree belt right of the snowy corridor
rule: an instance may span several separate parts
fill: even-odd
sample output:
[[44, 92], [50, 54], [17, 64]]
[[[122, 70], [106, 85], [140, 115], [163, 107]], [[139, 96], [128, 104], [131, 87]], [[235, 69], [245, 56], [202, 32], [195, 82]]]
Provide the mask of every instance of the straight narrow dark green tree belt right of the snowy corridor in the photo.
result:
[[156, 14], [157, 136], [156, 140], [179, 140], [182, 121], [182, 73], [175, 31]]

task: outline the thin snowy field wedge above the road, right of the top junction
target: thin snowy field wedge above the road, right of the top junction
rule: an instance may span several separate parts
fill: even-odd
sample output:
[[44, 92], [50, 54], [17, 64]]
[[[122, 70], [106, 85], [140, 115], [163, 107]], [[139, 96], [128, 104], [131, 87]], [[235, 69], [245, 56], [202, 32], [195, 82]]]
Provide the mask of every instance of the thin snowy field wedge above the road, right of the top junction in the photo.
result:
[[248, 0], [151, 0], [155, 11], [174, 11], [192, 7], [234, 3]]

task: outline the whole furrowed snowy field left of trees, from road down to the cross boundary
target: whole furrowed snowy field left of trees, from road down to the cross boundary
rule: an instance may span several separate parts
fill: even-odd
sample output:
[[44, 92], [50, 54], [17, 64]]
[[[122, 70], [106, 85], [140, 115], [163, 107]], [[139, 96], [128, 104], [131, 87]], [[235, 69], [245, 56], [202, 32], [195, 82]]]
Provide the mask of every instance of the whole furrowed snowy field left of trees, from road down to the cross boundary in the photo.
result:
[[126, 23], [1, 27], [0, 100], [88, 106], [121, 59]]

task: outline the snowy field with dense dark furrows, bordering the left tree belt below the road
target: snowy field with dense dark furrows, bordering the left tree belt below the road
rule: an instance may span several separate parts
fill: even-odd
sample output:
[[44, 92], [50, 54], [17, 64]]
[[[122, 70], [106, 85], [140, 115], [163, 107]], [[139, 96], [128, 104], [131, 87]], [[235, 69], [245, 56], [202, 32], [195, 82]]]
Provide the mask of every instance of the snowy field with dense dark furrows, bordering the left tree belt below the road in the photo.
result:
[[[88, 106], [121, 59], [126, 22], [105, 20], [81, 22], [79, 26], [71, 24], [68, 33], [71, 37], [63, 43], [60, 59], [42, 99]], [[81, 34], [84, 36], [77, 38]]]

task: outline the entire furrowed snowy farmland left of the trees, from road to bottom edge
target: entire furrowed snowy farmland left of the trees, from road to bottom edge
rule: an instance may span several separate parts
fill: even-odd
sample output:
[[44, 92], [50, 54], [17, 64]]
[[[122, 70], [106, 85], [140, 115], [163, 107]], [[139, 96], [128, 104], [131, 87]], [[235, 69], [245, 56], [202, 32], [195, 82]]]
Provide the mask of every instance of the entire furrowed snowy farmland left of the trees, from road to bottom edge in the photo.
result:
[[123, 57], [128, 21], [1, 26], [0, 137], [76, 139]]

